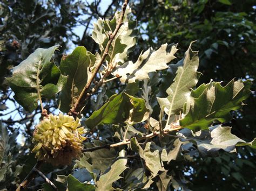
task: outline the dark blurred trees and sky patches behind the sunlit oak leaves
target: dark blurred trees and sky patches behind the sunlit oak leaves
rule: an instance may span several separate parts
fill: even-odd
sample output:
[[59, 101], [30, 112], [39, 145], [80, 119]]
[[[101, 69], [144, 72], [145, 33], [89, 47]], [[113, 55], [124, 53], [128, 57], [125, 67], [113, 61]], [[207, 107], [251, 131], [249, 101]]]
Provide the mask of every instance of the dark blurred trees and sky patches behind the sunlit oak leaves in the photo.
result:
[[[8, 154], [5, 154], [5, 162], [2, 161], [1, 163], [1, 189], [6, 186], [8, 189], [14, 189], [16, 183], [23, 180], [35, 164], [36, 160], [30, 153], [29, 148], [31, 148], [33, 128], [38, 122], [38, 116], [41, 112], [38, 107], [36, 111], [29, 113], [17, 104], [13, 98], [14, 94], [6, 84], [4, 77], [9, 77], [12, 67], [17, 66], [39, 47], [48, 48], [53, 45], [61, 45], [60, 51], [55, 54], [55, 63], [60, 66], [62, 53], [69, 50], [70, 46], [73, 46], [72, 44], [75, 46], [84, 45], [87, 51], [92, 53], [98, 51], [97, 44], [90, 37], [92, 23], [98, 17], [112, 18], [114, 11], [120, 9], [122, 2], [113, 0], [104, 11], [101, 10], [100, 4], [100, 1], [92, 3], [77, 1], [3, 1], [0, 3], [0, 116], [3, 119], [3, 125], [7, 126], [11, 133], [11, 136], [8, 136], [6, 132], [1, 131], [1, 137], [4, 137], [4, 145], [8, 147], [5, 149], [8, 151]], [[201, 83], [208, 83], [210, 79], [223, 80], [224, 84], [238, 76], [244, 80], [255, 79], [256, 26], [254, 23], [256, 9], [253, 1], [131, 1], [130, 7], [133, 10], [133, 17], [138, 21], [137, 27], [140, 36], [137, 42], [140, 46], [136, 46], [136, 49], [130, 54], [130, 59], [133, 62], [137, 60], [142, 49], [146, 50], [149, 47], [157, 49], [165, 43], [179, 43], [179, 51], [176, 56], [180, 60], [190, 41], [197, 40], [197, 43], [193, 44], [193, 49], [199, 50], [199, 72], [204, 74], [200, 77], [198, 86]], [[74, 30], [78, 25], [84, 26], [81, 37], [77, 36]], [[163, 74], [165, 75], [166, 71]], [[161, 74], [152, 75], [160, 76]], [[153, 79], [153, 76], [151, 76], [151, 79]], [[151, 91], [149, 91], [149, 87], [143, 89], [144, 84], [145, 82], [139, 84], [142, 89], [138, 90], [138, 94], [145, 96], [145, 93], [147, 93], [150, 94], [150, 97], [156, 98], [160, 82], [154, 80], [147, 82]], [[92, 111], [99, 109], [105, 103], [107, 98], [124, 88], [125, 86], [118, 80], [107, 83], [97, 96], [91, 97], [91, 102], [87, 103], [84, 115], [89, 117]], [[129, 91], [129, 88], [126, 89]], [[255, 90], [255, 83], [253, 83], [251, 89]], [[130, 94], [133, 93], [130, 92]], [[151, 100], [154, 99], [151, 98]], [[58, 113], [56, 111], [57, 103], [49, 101], [47, 98], [43, 102], [45, 103], [45, 109]], [[225, 125], [233, 126], [232, 133], [234, 135], [250, 142], [256, 135], [254, 93], [251, 94], [246, 103], [248, 105], [243, 107], [242, 110], [232, 112], [235, 119]], [[150, 104], [152, 116], [156, 116], [157, 111], [159, 111], [156, 100]], [[115, 127], [112, 126], [111, 128]], [[143, 129], [143, 126], [137, 128]], [[99, 137], [110, 138], [113, 136], [109, 129], [105, 128], [103, 130], [103, 126], [99, 126], [102, 134], [91, 135], [92, 137], [96, 136], [96, 142], [94, 143], [96, 146], [102, 144], [97, 140]], [[18, 138], [16, 139], [16, 137]], [[117, 135], [114, 138], [122, 139]], [[18, 144], [16, 145], [17, 140]], [[178, 141], [174, 144], [180, 145]], [[146, 146], [150, 148], [151, 145]], [[256, 187], [256, 174], [254, 173], [256, 171], [253, 171], [256, 168], [255, 150], [251, 147], [239, 147], [238, 154], [220, 151], [220, 156], [214, 158], [201, 157], [196, 151], [192, 154], [193, 151], [186, 150], [186, 147], [177, 147], [183, 153], [189, 154], [178, 155], [176, 159], [180, 160], [172, 160], [170, 163], [169, 168], [179, 177], [179, 179], [172, 180], [173, 188], [182, 187], [185, 189], [185, 186], [188, 186], [190, 189], [204, 190], [211, 185], [212, 189], [249, 190]], [[112, 155], [116, 154], [111, 154], [111, 152], [116, 151], [110, 150], [109, 152], [109, 150], [104, 149], [86, 153], [84, 157], [93, 160], [95, 155], [102, 155], [106, 153], [105, 151], [110, 153], [110, 156], [104, 156], [105, 158], [111, 158]], [[173, 150], [173, 152], [176, 151]], [[126, 164], [127, 161], [122, 159], [122, 153], [119, 153], [119, 157], [120, 160], [116, 162]], [[187, 160], [181, 160], [182, 157]], [[105, 162], [99, 167], [102, 171], [106, 170], [112, 159]], [[81, 167], [85, 164], [78, 163], [77, 165]], [[86, 165], [86, 167], [88, 166]], [[81, 182], [91, 181], [88, 172], [77, 169], [73, 171], [72, 167], [55, 169], [48, 165], [43, 166], [42, 171], [51, 179], [56, 178], [57, 174], [68, 175], [72, 173], [76, 178], [80, 178], [79, 181]], [[132, 178], [132, 173], [140, 177], [144, 173], [143, 171], [143, 168], [134, 167], [133, 172], [130, 169], [131, 174], [127, 175], [122, 181], [119, 180], [117, 183], [120, 185], [118, 186], [136, 185], [137, 180]], [[82, 184], [79, 182], [72, 184], [71, 182], [78, 181], [72, 175], [65, 179], [70, 190], [75, 189], [72, 186]], [[190, 183], [185, 182], [183, 176]], [[61, 178], [61, 176], [58, 176], [58, 179]], [[157, 176], [151, 187], [162, 187], [164, 189], [167, 185], [160, 180], [168, 179], [171, 178], [167, 172], [163, 172]], [[36, 178], [33, 184], [31, 183], [33, 187], [31, 186], [30, 189], [41, 188], [42, 182], [41, 178]], [[46, 189], [48, 185], [45, 184], [43, 187]]]

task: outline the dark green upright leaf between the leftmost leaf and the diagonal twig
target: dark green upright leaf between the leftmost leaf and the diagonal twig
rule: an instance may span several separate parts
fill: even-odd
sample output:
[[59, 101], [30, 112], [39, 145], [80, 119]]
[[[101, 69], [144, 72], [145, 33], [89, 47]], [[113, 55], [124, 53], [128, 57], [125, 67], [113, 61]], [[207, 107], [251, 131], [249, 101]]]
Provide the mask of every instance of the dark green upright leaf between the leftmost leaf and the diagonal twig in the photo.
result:
[[68, 75], [68, 81], [59, 93], [61, 111], [68, 112], [76, 103], [91, 75], [89, 66], [92, 62], [95, 62], [95, 55], [83, 46], [78, 46], [70, 55], [63, 56], [59, 69], [62, 74]]

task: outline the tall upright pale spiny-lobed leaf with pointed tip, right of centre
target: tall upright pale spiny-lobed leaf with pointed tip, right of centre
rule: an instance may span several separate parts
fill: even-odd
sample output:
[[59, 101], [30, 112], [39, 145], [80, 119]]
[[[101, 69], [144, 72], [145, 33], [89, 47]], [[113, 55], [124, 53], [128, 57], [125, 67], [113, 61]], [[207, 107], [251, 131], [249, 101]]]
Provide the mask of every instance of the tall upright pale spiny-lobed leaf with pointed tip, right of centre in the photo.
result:
[[168, 115], [178, 114], [182, 110], [183, 105], [190, 97], [191, 88], [196, 86], [200, 76], [200, 73], [197, 72], [199, 65], [198, 52], [192, 51], [192, 43], [188, 47], [184, 58], [176, 65], [170, 65], [167, 75], [163, 76], [159, 87], [157, 100], [160, 107], [164, 107], [164, 111]]

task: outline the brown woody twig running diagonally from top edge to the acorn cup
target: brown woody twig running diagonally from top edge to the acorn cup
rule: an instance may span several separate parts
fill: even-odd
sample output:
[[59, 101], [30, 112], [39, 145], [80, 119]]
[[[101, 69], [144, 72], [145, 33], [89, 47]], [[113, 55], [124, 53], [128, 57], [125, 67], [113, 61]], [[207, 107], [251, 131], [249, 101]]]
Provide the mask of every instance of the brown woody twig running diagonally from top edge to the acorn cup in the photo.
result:
[[111, 36], [109, 37], [109, 41], [107, 42], [107, 45], [106, 45], [106, 48], [105, 48], [105, 51], [102, 55], [102, 58], [100, 59], [99, 63], [97, 63], [96, 67], [95, 67], [95, 70], [93, 70], [93, 73], [92, 75], [90, 76], [90, 78], [88, 79], [84, 89], [82, 90], [81, 94], [79, 95], [76, 103], [73, 105], [73, 107], [70, 109], [69, 111], [69, 115], [71, 116], [76, 116], [77, 114], [79, 114], [79, 112], [77, 111], [77, 109], [79, 108], [79, 104], [80, 102], [85, 98], [85, 95], [87, 93], [87, 90], [89, 90], [90, 86], [91, 86], [91, 83], [93, 81], [93, 79], [95, 78], [96, 74], [98, 73], [98, 70], [99, 68], [102, 66], [103, 62], [105, 61], [106, 59], [106, 56], [107, 54], [109, 54], [109, 48], [110, 48], [110, 45], [114, 39], [114, 37], [116, 37], [117, 35], [117, 32], [119, 31], [120, 27], [122, 26], [123, 24], [123, 18], [124, 18], [124, 12], [125, 12], [125, 9], [126, 9], [126, 6], [128, 4], [129, 0], [125, 0], [123, 6], [122, 6], [122, 12], [120, 13], [120, 18], [118, 20], [118, 23], [117, 23], [117, 26], [116, 26], [116, 29], [114, 30], [114, 32], [111, 34]]

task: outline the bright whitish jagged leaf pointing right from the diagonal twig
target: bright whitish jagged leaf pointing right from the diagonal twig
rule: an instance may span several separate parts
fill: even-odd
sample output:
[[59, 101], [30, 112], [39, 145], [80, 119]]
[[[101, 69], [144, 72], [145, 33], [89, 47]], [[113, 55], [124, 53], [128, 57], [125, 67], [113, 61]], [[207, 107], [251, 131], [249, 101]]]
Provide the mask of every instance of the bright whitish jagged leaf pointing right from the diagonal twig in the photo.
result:
[[178, 50], [176, 47], [177, 44], [164, 44], [157, 51], [150, 48], [141, 53], [135, 63], [129, 61], [122, 66], [117, 66], [113, 74], [121, 76], [120, 81], [123, 83], [134, 83], [136, 80], [149, 79], [148, 73], [168, 68], [167, 63], [176, 58], [174, 56]]

